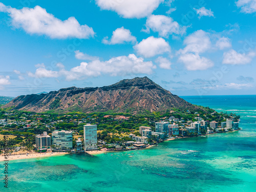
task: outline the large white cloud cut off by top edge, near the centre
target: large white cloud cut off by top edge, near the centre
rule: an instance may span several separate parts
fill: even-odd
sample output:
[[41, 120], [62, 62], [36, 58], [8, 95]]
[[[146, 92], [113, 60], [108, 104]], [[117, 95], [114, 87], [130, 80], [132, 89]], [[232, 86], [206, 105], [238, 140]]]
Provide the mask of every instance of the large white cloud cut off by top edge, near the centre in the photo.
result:
[[164, 0], [96, 0], [103, 10], [117, 12], [124, 18], [143, 18], [156, 10]]

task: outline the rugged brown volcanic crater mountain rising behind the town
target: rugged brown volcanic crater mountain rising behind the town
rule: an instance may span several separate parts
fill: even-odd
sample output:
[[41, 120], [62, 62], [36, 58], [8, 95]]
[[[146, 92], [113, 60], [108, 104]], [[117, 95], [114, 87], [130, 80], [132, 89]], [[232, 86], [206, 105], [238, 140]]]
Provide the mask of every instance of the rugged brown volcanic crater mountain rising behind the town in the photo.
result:
[[3, 106], [33, 112], [142, 112], [197, 109], [177, 95], [163, 89], [147, 77], [124, 79], [101, 88], [65, 88], [48, 94], [22, 95]]

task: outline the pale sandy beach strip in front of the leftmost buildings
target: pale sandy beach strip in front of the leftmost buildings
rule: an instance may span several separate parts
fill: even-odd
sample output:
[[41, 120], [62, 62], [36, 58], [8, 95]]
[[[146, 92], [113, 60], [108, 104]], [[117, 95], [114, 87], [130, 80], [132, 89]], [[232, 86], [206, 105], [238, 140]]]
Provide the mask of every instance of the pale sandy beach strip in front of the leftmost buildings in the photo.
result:
[[[8, 156], [8, 160], [17, 160], [17, 159], [31, 159], [31, 158], [40, 158], [40, 157], [49, 157], [56, 155], [66, 155], [67, 152], [53, 152], [53, 153], [31, 153], [31, 154], [23, 154], [23, 155], [10, 155]], [[0, 161], [6, 160], [4, 156], [0, 156]]]

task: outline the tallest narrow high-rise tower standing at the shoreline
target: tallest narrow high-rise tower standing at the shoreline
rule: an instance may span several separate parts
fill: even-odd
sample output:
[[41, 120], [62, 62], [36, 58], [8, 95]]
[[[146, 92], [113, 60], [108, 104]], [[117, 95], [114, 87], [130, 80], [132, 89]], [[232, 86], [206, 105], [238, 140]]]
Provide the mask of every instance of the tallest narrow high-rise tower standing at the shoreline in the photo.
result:
[[97, 150], [97, 125], [83, 126], [84, 151]]

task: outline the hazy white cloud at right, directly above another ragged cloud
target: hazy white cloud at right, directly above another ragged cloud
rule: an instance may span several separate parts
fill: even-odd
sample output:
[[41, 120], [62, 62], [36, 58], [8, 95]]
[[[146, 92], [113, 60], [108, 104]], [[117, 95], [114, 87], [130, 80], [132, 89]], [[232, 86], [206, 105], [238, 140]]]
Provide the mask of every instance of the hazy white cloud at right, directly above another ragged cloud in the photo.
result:
[[187, 36], [184, 40], [184, 44], [186, 47], [183, 50], [179, 50], [178, 53], [204, 53], [211, 48], [209, 34], [203, 30], [198, 30]]

